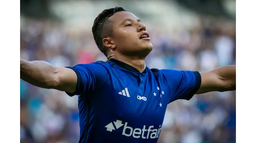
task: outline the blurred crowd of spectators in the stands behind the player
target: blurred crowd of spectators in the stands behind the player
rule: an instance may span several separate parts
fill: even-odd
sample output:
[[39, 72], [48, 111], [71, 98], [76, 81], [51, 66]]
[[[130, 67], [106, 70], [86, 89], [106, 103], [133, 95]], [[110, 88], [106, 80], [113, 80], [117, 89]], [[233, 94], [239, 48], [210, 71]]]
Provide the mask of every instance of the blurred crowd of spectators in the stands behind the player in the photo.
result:
[[[161, 26], [161, 25], [156, 25]], [[149, 68], [198, 70], [236, 64], [236, 27], [202, 19], [191, 29], [148, 29], [154, 49]], [[27, 19], [20, 29], [20, 58], [54, 66], [106, 61], [90, 30], [68, 31], [60, 23]], [[235, 143], [236, 92], [210, 92], [168, 105], [159, 143]], [[20, 81], [20, 141], [75, 143], [79, 140], [77, 97]]]

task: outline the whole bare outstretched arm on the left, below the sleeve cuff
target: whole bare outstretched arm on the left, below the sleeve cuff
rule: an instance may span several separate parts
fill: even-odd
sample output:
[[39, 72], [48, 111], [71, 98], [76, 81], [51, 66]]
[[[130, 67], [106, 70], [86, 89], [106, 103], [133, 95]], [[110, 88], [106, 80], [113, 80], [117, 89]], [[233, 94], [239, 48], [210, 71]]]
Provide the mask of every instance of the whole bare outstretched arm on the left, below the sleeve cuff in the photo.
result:
[[54, 67], [44, 61], [20, 59], [20, 78], [32, 85], [47, 89], [75, 92], [77, 75], [70, 68]]

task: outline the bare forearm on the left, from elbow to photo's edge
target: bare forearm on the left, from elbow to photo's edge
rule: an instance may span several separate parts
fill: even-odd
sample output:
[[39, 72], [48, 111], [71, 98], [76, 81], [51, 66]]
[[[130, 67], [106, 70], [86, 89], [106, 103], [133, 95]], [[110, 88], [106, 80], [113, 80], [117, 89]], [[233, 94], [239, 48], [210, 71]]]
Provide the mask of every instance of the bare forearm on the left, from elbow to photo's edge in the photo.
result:
[[57, 68], [44, 61], [25, 61], [20, 59], [20, 78], [41, 88], [53, 88], [58, 84], [54, 77]]

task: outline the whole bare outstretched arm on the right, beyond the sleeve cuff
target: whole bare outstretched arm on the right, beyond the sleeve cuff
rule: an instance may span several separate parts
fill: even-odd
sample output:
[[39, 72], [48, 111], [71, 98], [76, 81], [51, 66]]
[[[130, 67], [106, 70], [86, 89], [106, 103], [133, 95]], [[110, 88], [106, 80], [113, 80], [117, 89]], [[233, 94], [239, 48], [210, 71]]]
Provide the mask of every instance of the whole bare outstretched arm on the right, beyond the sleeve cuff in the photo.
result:
[[210, 72], [200, 73], [201, 86], [196, 94], [203, 94], [211, 91], [232, 91], [236, 90], [236, 66], [223, 66]]

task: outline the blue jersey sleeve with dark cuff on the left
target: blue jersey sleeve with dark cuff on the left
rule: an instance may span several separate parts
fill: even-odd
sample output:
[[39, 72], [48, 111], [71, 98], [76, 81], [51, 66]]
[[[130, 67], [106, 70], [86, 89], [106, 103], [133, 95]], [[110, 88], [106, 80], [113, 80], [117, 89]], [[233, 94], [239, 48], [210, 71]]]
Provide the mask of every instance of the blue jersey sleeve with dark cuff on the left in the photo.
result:
[[73, 94], [66, 92], [69, 96], [84, 95], [100, 88], [107, 79], [108, 70], [100, 63], [79, 64], [71, 68], [77, 75], [76, 90]]

